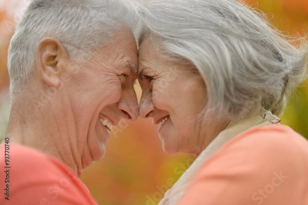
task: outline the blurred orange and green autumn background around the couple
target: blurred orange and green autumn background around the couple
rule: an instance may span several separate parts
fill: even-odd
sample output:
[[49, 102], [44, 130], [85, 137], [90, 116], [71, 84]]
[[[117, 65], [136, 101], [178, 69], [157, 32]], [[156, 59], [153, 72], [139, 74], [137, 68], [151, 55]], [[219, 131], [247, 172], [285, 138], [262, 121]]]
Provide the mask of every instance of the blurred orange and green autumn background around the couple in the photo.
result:
[[[0, 0], [0, 139], [9, 115], [7, 48], [28, 3], [27, 0]], [[267, 13], [273, 24], [285, 33], [304, 35], [308, 31], [308, 0], [246, 0], [246, 3]], [[295, 92], [281, 122], [306, 137], [307, 84]], [[136, 90], [140, 97], [140, 87], [136, 86]], [[144, 119], [133, 124], [121, 121], [113, 129], [106, 147], [104, 159], [93, 162], [82, 176], [93, 197], [104, 205], [157, 204], [195, 158], [187, 154], [167, 156], [162, 151], [157, 126]]]

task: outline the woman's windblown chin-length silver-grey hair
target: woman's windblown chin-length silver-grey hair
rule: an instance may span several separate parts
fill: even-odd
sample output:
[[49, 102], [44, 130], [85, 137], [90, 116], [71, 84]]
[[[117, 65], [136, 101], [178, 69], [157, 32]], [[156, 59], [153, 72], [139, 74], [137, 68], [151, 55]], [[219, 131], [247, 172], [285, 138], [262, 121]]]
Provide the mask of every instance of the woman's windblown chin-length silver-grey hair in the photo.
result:
[[264, 13], [235, 0], [150, 2], [139, 18], [139, 44], [149, 35], [162, 58], [194, 66], [207, 89], [205, 113], [217, 120], [244, 119], [261, 106], [280, 115], [305, 78], [306, 40], [286, 40]]

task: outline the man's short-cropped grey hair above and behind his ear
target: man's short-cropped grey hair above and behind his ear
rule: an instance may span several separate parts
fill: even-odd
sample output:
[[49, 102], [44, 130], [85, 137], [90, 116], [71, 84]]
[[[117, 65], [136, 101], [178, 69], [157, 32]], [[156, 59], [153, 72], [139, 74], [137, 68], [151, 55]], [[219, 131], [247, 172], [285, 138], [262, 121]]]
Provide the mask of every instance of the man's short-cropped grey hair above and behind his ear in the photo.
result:
[[83, 60], [124, 26], [136, 25], [136, 7], [125, 0], [33, 0], [10, 42], [11, 97], [25, 90], [43, 38], [56, 38], [72, 59]]

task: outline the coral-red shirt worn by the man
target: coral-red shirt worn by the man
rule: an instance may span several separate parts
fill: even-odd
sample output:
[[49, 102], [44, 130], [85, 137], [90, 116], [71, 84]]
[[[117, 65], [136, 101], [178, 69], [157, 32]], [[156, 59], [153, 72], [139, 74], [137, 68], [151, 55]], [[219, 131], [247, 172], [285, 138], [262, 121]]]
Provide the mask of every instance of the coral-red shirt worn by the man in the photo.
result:
[[0, 170], [2, 205], [97, 205], [66, 165], [34, 149], [3, 141]]

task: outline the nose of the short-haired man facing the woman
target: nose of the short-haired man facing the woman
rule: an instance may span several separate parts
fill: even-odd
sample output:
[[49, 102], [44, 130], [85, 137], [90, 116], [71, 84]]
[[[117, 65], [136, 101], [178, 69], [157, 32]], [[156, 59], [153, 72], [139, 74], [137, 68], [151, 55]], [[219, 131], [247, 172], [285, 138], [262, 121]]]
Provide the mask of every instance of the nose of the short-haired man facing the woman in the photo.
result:
[[136, 121], [138, 119], [139, 106], [137, 95], [133, 88], [123, 88], [122, 97], [117, 108], [121, 111], [123, 118], [130, 121]]

